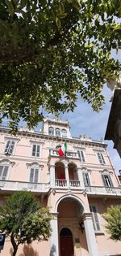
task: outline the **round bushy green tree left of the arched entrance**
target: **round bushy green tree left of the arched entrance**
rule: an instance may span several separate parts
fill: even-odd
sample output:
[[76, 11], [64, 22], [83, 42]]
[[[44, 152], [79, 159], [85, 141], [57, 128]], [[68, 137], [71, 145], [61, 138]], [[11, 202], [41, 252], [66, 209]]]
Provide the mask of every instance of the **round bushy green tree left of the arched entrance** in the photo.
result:
[[16, 255], [20, 244], [48, 240], [51, 218], [48, 208], [40, 208], [29, 192], [16, 192], [6, 197], [6, 205], [0, 207], [0, 229], [10, 236], [12, 256]]

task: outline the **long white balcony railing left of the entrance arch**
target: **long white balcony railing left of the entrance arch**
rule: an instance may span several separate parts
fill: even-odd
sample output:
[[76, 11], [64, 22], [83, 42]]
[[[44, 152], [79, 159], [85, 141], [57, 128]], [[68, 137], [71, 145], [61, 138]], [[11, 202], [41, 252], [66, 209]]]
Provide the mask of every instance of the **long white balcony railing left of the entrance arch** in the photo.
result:
[[11, 191], [19, 191], [19, 190], [31, 190], [35, 192], [48, 192], [50, 188], [50, 184], [45, 183], [30, 183], [30, 182], [22, 182], [22, 181], [13, 181], [13, 180], [0, 180], [0, 189], [2, 190], [11, 190]]

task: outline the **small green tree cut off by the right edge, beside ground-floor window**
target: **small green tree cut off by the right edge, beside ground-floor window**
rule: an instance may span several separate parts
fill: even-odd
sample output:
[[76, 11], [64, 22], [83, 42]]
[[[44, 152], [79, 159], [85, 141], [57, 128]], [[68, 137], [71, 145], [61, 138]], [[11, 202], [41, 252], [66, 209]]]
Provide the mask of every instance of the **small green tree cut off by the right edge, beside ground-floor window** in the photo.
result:
[[106, 231], [111, 235], [111, 239], [121, 241], [121, 206], [111, 206], [107, 208], [103, 215], [106, 219]]

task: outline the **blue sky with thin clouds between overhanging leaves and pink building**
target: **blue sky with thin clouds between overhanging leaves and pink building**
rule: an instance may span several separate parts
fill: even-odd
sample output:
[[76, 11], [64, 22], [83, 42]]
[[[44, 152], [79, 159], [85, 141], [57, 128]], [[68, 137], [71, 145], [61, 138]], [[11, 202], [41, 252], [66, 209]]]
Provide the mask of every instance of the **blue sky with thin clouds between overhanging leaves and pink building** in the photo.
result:
[[[108, 122], [111, 102], [110, 98], [112, 92], [110, 89], [104, 86], [103, 95], [106, 97], [106, 104], [102, 106], [102, 111], [96, 113], [92, 110], [90, 104], [82, 102], [81, 99], [77, 101], [77, 108], [73, 113], [61, 115], [62, 119], [68, 119], [71, 126], [71, 133], [73, 137], [79, 137], [86, 134], [92, 139], [100, 140], [104, 139], [106, 133], [106, 125]], [[108, 146], [107, 150], [111, 157], [111, 161], [117, 174], [121, 169], [121, 159], [115, 149], [113, 149], [113, 141], [104, 141]]]

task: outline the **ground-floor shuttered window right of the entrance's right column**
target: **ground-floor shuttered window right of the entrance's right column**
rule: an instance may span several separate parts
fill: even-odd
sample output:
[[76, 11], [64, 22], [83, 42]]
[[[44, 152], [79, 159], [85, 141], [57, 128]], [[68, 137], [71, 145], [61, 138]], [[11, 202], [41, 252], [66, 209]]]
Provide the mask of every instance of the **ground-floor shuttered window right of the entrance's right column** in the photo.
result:
[[92, 214], [94, 232], [102, 232], [98, 214], [98, 207], [95, 204], [90, 204], [90, 213]]

